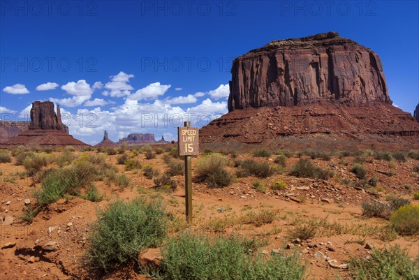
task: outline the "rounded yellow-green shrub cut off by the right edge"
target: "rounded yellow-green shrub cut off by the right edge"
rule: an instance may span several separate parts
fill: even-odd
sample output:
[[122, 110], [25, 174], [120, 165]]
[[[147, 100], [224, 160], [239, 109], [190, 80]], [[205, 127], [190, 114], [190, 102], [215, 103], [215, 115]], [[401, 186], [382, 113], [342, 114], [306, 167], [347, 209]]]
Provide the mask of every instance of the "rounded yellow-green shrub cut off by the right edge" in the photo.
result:
[[419, 234], [419, 206], [405, 205], [390, 216], [390, 226], [399, 235]]

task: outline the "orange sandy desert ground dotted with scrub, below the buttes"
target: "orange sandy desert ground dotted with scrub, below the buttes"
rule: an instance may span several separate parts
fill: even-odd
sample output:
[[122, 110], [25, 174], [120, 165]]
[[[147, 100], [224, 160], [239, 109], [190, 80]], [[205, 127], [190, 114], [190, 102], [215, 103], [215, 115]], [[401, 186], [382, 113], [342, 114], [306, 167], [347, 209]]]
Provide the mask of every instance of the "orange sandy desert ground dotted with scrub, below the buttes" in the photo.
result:
[[[0, 278], [186, 279], [170, 274], [170, 265], [179, 267], [180, 260], [165, 248], [193, 235], [210, 243], [247, 240], [248, 261], [281, 263], [285, 257], [275, 256], [288, 256], [301, 272], [270, 279], [386, 279], [374, 273], [385, 271], [380, 261], [388, 256], [396, 261], [387, 263], [387, 279], [418, 279], [417, 150], [220, 147], [204, 145], [192, 159], [192, 224], [185, 221], [184, 161], [176, 145], [1, 150]], [[73, 182], [62, 179], [66, 175]], [[112, 260], [118, 250], [112, 245], [110, 253], [91, 257], [98, 234], [93, 228], [98, 217], [106, 219], [100, 213], [138, 198], [161, 201], [164, 214], [157, 222], [164, 223], [164, 233], [133, 245], [136, 255], [123, 262]], [[397, 216], [406, 208], [416, 212]], [[113, 230], [108, 239], [135, 235]], [[228, 250], [220, 252], [224, 262], [235, 262]], [[372, 274], [362, 274], [360, 264]]]

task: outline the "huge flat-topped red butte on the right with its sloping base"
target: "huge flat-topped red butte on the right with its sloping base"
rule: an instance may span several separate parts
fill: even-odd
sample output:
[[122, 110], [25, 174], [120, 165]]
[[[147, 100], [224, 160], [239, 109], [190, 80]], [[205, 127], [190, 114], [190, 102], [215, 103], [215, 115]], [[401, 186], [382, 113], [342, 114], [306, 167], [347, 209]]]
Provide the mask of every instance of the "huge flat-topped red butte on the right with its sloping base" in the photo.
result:
[[419, 136], [419, 123], [392, 106], [378, 55], [336, 32], [274, 40], [234, 59], [231, 74], [229, 112], [201, 128], [201, 142]]

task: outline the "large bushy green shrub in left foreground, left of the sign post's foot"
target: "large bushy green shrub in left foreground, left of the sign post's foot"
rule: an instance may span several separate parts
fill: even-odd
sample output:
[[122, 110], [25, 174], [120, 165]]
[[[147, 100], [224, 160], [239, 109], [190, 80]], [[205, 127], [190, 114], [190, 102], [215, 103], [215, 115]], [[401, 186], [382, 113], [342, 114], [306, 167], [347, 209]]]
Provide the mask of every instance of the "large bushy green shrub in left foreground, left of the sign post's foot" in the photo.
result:
[[85, 260], [91, 268], [109, 271], [138, 258], [166, 237], [166, 214], [159, 200], [116, 200], [98, 212], [91, 226]]

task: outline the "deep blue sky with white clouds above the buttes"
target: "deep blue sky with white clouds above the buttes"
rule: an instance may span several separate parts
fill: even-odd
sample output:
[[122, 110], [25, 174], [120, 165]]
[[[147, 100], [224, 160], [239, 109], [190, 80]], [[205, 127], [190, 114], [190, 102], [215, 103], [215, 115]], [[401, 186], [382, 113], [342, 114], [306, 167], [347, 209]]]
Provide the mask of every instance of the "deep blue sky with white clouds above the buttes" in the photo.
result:
[[[418, 1], [1, 1], [0, 113], [61, 105], [76, 138], [175, 138], [227, 112], [234, 57], [337, 31], [383, 62], [390, 98], [419, 102]], [[28, 115], [26, 115], [28, 116]]]

